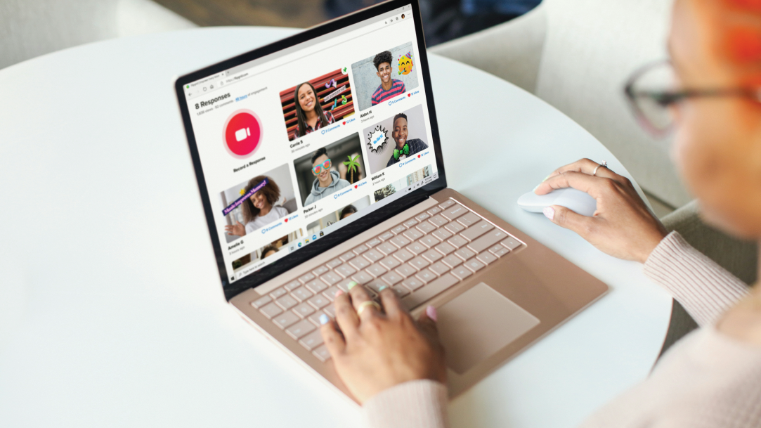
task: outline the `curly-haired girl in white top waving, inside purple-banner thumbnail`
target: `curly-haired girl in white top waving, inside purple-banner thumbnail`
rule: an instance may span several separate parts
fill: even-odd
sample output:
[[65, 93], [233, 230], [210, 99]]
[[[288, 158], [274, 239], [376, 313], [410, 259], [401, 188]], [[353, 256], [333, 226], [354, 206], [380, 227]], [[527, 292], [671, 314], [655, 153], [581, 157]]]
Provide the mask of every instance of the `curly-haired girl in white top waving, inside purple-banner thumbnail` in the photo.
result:
[[253, 193], [250, 198], [240, 205], [240, 210], [243, 212], [243, 221], [246, 224], [243, 225], [236, 221], [237, 225], [224, 226], [224, 230], [228, 232], [228, 235], [244, 236], [269, 225], [269, 223], [288, 216], [288, 209], [282, 206], [273, 206], [280, 199], [280, 187], [275, 184], [275, 180], [272, 180], [272, 178], [266, 175], [253, 177], [244, 189], [244, 193], [250, 192], [251, 189], [265, 179], [267, 180], [266, 186], [262, 190]]

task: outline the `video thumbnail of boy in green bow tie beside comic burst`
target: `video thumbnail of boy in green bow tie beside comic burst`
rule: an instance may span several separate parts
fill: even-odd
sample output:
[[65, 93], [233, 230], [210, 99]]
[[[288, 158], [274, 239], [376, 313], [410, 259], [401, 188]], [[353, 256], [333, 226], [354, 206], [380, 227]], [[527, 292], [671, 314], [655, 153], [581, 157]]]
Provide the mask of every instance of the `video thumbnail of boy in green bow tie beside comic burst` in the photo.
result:
[[362, 137], [368, 149], [370, 174], [428, 149], [422, 105], [365, 128]]

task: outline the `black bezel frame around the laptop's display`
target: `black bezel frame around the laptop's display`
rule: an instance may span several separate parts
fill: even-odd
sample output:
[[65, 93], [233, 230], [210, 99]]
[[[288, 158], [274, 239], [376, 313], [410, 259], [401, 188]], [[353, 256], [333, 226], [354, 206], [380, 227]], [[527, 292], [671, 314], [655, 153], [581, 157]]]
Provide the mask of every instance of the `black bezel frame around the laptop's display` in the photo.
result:
[[[256, 272], [250, 273], [248, 276], [237, 279], [234, 281], [234, 283], [230, 283], [228, 280], [228, 269], [224, 264], [221, 243], [217, 236], [217, 226], [212, 214], [212, 203], [209, 197], [208, 188], [206, 187], [203, 168], [201, 166], [201, 158], [199, 157], [198, 147], [196, 145], [196, 136], [193, 133], [193, 125], [190, 120], [190, 112], [186, 102], [186, 96], [183, 87], [189, 83], [192, 83], [193, 81], [206, 78], [209, 75], [214, 75], [218, 72], [224, 72], [225, 70], [236, 67], [237, 65], [242, 65], [246, 62], [253, 61], [254, 59], [259, 59], [263, 56], [276, 53], [291, 46], [295, 46], [314, 38], [330, 34], [333, 31], [341, 30], [344, 27], [349, 27], [350, 25], [357, 24], [361, 21], [366, 21], [371, 18], [380, 19], [380, 14], [394, 11], [395, 9], [406, 5], [411, 5], [412, 20], [415, 23], [415, 32], [417, 35], [416, 42], [418, 43], [419, 53], [418, 67], [419, 72], [422, 74], [423, 87], [425, 88], [425, 95], [428, 104], [428, 117], [430, 118], [431, 122], [431, 141], [433, 142], [435, 148], [434, 153], [438, 168], [438, 178], [431, 181], [431, 183], [420, 187], [417, 190], [406, 193], [398, 200], [395, 200], [392, 203], [388, 203], [387, 206], [384, 206], [380, 209], [375, 209], [374, 211], [363, 215], [361, 221], [350, 222], [349, 224], [342, 226], [336, 231], [325, 235], [323, 238], [320, 238], [319, 240], [304, 246], [304, 248], [300, 248], [298, 251], [282, 257], [281, 259], [276, 260], [274, 263], [262, 267], [262, 269]], [[377, 5], [361, 9], [352, 14], [345, 15], [341, 18], [336, 18], [333, 21], [328, 21], [316, 27], [311, 27], [291, 37], [286, 37], [285, 39], [278, 40], [265, 46], [261, 46], [250, 52], [243, 53], [239, 56], [234, 56], [231, 59], [218, 62], [214, 65], [209, 65], [208, 67], [200, 69], [196, 72], [191, 72], [189, 74], [180, 76], [180, 78], [177, 78], [177, 81], [175, 81], [174, 88], [177, 92], [177, 101], [180, 104], [180, 112], [182, 113], [183, 117], [183, 125], [185, 126], [185, 133], [188, 139], [190, 155], [193, 159], [193, 169], [196, 171], [196, 179], [198, 180], [199, 193], [201, 193], [201, 200], [206, 215], [206, 222], [209, 226], [209, 235], [212, 238], [212, 246], [214, 248], [215, 257], [217, 259], [217, 267], [222, 283], [222, 289], [224, 290], [224, 297], [228, 301], [240, 292], [244, 292], [247, 289], [259, 286], [262, 283], [266, 283], [266, 281], [269, 281], [269, 279], [272, 279], [275, 276], [279, 276], [280, 274], [285, 273], [294, 267], [297, 267], [299, 264], [310, 260], [312, 257], [330, 250], [330, 248], [333, 248], [345, 240], [352, 238], [361, 232], [364, 232], [368, 228], [371, 228], [374, 225], [377, 225], [378, 223], [383, 222], [392, 216], [395, 216], [397, 213], [403, 211], [404, 209], [407, 209], [416, 203], [422, 202], [422, 200], [427, 199], [431, 194], [447, 187], [446, 174], [444, 173], [444, 161], [441, 156], [441, 141], [439, 139], [438, 133], [438, 122], [436, 120], [436, 112], [434, 108], [433, 91], [431, 90], [431, 75], [428, 72], [428, 56], [425, 51], [425, 37], [423, 36], [422, 20], [417, 0], [389, 0], [388, 2], [379, 3]]]

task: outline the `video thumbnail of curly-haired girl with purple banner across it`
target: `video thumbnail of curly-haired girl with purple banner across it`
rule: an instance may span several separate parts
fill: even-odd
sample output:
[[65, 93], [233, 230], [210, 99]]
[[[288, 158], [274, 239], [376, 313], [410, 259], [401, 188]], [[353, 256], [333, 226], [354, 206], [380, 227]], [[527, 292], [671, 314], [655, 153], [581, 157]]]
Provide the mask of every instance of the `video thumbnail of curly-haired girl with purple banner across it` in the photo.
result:
[[228, 243], [277, 222], [298, 209], [288, 164], [219, 193]]

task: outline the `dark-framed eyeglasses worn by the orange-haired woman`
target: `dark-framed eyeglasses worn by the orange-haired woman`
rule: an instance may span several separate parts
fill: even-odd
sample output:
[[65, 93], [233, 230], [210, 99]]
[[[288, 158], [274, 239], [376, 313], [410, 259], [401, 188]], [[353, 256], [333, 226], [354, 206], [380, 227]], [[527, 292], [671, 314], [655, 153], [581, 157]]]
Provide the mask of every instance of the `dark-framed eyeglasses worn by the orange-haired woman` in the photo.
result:
[[749, 97], [761, 102], [761, 88], [679, 89], [677, 72], [669, 60], [638, 69], [626, 82], [626, 99], [640, 125], [654, 136], [673, 128], [676, 104], [698, 97]]

